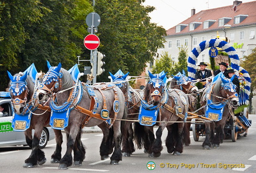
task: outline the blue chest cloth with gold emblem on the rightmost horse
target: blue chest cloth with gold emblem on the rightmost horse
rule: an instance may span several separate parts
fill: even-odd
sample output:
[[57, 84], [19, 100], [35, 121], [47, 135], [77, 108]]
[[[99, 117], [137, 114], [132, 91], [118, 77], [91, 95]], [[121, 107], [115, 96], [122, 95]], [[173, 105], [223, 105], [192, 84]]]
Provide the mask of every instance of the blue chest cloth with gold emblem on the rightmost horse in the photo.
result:
[[225, 103], [212, 104], [212, 100], [207, 100], [205, 116], [212, 120], [221, 120], [225, 105]]

